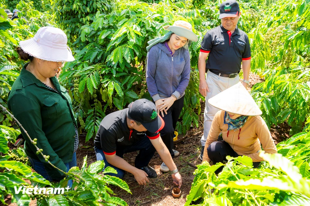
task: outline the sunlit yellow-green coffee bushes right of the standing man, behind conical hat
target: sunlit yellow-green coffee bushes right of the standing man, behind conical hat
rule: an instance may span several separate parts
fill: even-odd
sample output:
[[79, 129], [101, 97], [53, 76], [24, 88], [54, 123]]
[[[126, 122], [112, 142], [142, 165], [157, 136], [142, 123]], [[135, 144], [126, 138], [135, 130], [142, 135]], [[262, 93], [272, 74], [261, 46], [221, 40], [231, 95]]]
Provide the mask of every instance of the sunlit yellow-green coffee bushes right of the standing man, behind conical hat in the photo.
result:
[[252, 70], [265, 77], [265, 82], [252, 88], [252, 95], [268, 126], [287, 121], [291, 134], [302, 130], [310, 111], [307, 5], [308, 1], [274, 4], [258, 25], [259, 30], [254, 28], [249, 34], [253, 39]]

